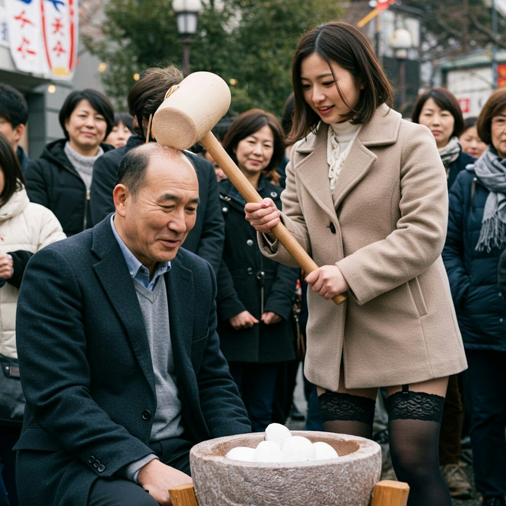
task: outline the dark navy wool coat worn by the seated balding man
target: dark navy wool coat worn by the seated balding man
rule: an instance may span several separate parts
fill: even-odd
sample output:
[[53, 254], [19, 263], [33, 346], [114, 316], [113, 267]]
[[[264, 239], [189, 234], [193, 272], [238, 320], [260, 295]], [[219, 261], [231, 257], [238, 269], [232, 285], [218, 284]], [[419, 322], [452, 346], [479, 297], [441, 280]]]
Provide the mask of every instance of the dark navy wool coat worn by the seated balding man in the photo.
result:
[[[181, 248], [164, 274], [185, 438], [250, 431], [219, 349], [216, 282]], [[17, 339], [26, 411], [20, 499], [86, 506], [98, 478], [152, 453], [155, 378], [134, 283], [110, 219], [38, 251], [24, 274]]]

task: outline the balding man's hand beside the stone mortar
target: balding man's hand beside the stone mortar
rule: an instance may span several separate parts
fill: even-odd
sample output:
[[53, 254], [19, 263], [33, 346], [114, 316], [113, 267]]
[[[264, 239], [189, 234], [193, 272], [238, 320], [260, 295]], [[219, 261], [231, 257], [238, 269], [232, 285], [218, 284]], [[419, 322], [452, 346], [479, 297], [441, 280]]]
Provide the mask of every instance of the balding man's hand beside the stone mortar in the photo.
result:
[[137, 483], [147, 490], [160, 506], [172, 506], [168, 489], [188, 485], [193, 483], [193, 480], [182, 471], [153, 459], [139, 470]]

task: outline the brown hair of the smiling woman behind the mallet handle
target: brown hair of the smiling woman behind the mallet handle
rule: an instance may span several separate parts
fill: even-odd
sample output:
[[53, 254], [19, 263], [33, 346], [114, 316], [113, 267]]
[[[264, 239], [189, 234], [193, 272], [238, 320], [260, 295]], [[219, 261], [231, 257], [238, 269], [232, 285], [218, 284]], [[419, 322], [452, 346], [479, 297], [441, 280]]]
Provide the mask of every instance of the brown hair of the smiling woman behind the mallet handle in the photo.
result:
[[269, 181], [277, 184], [279, 181], [279, 174], [276, 172], [276, 168], [279, 166], [284, 156], [284, 135], [281, 124], [274, 114], [264, 111], [263, 109], [250, 109], [249, 111], [239, 114], [230, 125], [222, 144], [234, 163], [237, 163], [237, 157], [234, 153], [237, 144], [265, 125], [268, 125], [272, 131], [274, 149], [271, 160], [262, 171], [262, 174]]

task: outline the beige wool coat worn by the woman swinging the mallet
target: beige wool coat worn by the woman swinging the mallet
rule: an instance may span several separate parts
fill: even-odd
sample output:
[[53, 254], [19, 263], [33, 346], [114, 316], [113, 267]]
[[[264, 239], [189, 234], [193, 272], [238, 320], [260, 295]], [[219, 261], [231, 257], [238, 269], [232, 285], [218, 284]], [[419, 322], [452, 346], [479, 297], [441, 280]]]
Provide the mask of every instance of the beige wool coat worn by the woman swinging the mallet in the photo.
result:
[[[423, 125], [380, 106], [330, 191], [327, 129], [299, 141], [286, 167], [282, 221], [319, 265], [350, 285], [336, 306], [308, 289], [305, 374], [327, 390], [404, 385], [467, 367], [441, 251], [448, 192]], [[296, 265], [259, 234], [262, 252]]]

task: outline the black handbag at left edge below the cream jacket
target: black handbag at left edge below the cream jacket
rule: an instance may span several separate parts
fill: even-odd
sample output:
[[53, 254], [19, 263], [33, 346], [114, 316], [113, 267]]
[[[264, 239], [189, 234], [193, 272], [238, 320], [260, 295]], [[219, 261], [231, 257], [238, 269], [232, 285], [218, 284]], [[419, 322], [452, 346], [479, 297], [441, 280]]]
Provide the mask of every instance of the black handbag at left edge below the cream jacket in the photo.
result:
[[23, 423], [25, 396], [21, 389], [18, 359], [0, 353], [0, 424], [20, 426]]

